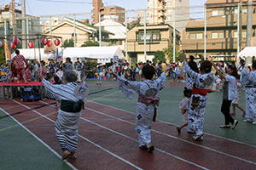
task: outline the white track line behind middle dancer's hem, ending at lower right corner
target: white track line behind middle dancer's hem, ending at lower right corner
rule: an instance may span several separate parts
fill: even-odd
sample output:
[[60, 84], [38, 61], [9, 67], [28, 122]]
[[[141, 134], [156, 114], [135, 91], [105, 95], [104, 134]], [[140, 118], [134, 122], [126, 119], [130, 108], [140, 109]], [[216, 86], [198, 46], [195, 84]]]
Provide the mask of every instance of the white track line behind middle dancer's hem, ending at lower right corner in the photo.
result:
[[[40, 101], [40, 102], [42, 102], [42, 103], [44, 103], [44, 104], [46, 104], [46, 105], [49, 105], [49, 104], [46, 103], [46, 102], [43, 102], [43, 101]], [[50, 106], [52, 106], [52, 105], [50, 105]], [[54, 106], [52, 106], [52, 107], [54, 107]], [[133, 123], [133, 122], [125, 121], [125, 120], [123, 120], [123, 119], [121, 119], [121, 118], [119, 118], [119, 117], [110, 116], [110, 115], [108, 115], [108, 114], [106, 114], [106, 113], [103, 113], [102, 111], [96, 111], [96, 110], [90, 109], [90, 108], [88, 108], [88, 107], [86, 107], [85, 109], [87, 109], [87, 110], [89, 110], [89, 111], [94, 111], [94, 112], [96, 112], [96, 113], [98, 113], [98, 114], [101, 114], [101, 115], [103, 115], [103, 116], [111, 117], [111, 118], [116, 119], [116, 120], [119, 120], [119, 121], [121, 121], [121, 122], [126, 122], [126, 123], [129, 123], [129, 124], [135, 125], [135, 123]], [[190, 141], [185, 140], [185, 139], [180, 139], [180, 138], [177, 138], [176, 136], [172, 136], [171, 134], [162, 133], [162, 132], [157, 131], [157, 130], [154, 130], [154, 129], [151, 129], [151, 131], [153, 131], [153, 132], [155, 132], [155, 133], [160, 133], [160, 134], [162, 134], [162, 135], [164, 135], [164, 136], [167, 136], [167, 137], [170, 137], [170, 138], [172, 138], [172, 139], [177, 139], [177, 140], [183, 141], [183, 142], [188, 143], [188, 144], [196, 145], [196, 146], [201, 147], [201, 148], [204, 148], [204, 149], [206, 149], [206, 150], [212, 150], [212, 151], [217, 152], [218, 154], [221, 154], [221, 155], [224, 155], [224, 156], [230, 156], [230, 157], [235, 158], [235, 159], [238, 159], [238, 160], [240, 160], [240, 161], [246, 161], [247, 163], [251, 163], [251, 164], [253, 164], [253, 165], [256, 165], [256, 162], [248, 161], [248, 160], [243, 159], [243, 158], [238, 157], [238, 156], [232, 156], [232, 155], [230, 155], [230, 154], [228, 154], [228, 153], [225, 153], [225, 152], [223, 152], [223, 151], [214, 150], [214, 149], [212, 149], [212, 148], [210, 148], [210, 147], [207, 147], [207, 146], [204, 146], [204, 145], [201, 145], [201, 144], [196, 144], [196, 143], [190, 142]]]

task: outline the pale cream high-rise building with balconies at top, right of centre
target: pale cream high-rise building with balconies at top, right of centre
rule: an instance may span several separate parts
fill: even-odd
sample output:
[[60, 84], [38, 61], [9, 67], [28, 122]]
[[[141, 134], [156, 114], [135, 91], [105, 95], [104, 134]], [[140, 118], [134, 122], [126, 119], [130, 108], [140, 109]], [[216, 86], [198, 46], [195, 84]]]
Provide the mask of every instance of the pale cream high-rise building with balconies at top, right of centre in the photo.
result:
[[148, 0], [148, 23], [173, 25], [182, 32], [189, 21], [189, 0]]

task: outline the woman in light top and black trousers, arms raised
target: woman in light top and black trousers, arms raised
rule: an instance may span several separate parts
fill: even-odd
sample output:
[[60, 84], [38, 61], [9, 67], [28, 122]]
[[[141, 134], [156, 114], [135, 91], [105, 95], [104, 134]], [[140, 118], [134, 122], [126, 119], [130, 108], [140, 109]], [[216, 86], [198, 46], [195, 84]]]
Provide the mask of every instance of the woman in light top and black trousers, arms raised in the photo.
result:
[[[224, 125], [221, 125], [219, 127], [221, 128], [230, 128], [230, 123], [232, 124], [232, 129], [234, 129], [238, 123], [237, 120], [233, 119], [232, 116], [230, 116], [230, 105], [232, 100], [235, 97], [235, 88], [236, 88], [236, 77], [237, 77], [237, 71], [236, 71], [236, 65], [227, 65], [227, 74], [218, 71], [218, 68], [215, 64], [213, 64], [214, 68], [218, 72], [219, 77], [221, 77], [224, 82], [223, 87], [223, 101], [221, 105], [221, 112], [224, 115], [225, 123]], [[220, 67], [220, 65], [218, 65]]]

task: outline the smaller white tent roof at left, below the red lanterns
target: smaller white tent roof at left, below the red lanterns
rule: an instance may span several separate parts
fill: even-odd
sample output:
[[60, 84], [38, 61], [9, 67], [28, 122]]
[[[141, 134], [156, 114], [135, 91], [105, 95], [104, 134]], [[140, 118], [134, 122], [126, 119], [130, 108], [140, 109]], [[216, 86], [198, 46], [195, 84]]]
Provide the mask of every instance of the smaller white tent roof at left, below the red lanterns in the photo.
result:
[[[39, 50], [38, 48], [22, 48], [19, 49], [20, 54], [25, 57], [25, 59], [38, 59], [39, 60]], [[44, 54], [44, 48], [40, 48], [41, 59], [53, 59], [54, 54]], [[15, 52], [12, 54], [12, 58], [15, 57]]]

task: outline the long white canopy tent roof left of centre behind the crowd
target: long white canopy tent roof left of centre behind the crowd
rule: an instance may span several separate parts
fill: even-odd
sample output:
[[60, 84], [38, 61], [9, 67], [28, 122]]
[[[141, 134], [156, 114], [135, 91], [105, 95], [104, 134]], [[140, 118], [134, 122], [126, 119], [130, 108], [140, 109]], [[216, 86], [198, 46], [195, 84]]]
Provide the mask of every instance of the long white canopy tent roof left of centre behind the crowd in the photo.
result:
[[114, 55], [117, 55], [118, 59], [125, 59], [122, 50], [118, 46], [65, 48], [63, 54], [64, 58], [70, 57], [72, 60], [77, 58], [113, 59]]

